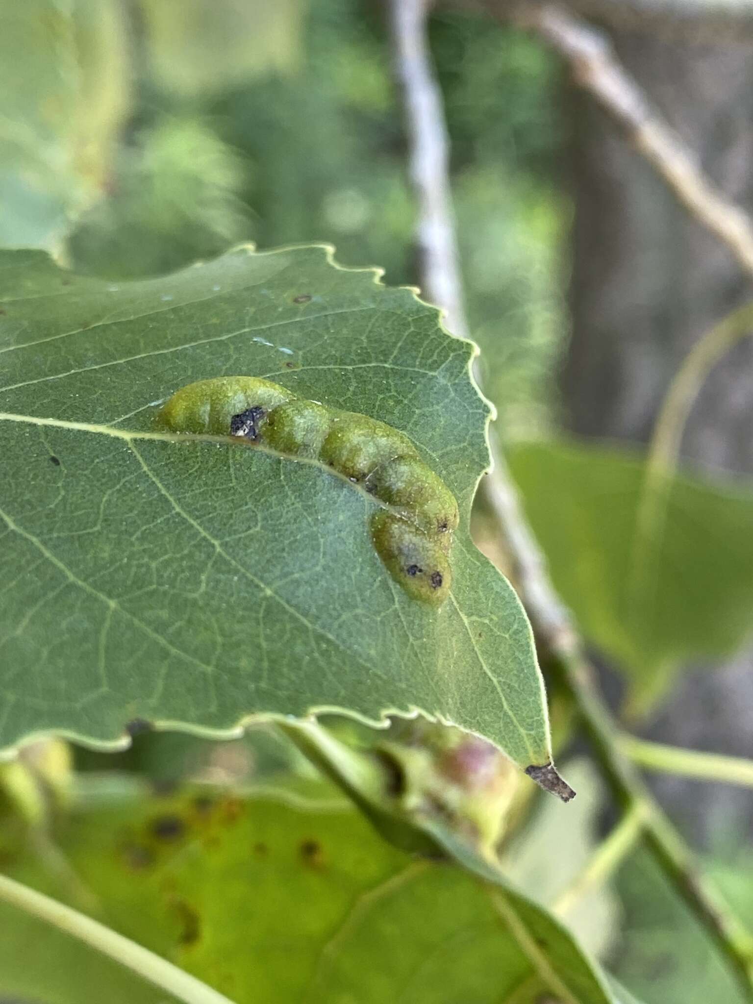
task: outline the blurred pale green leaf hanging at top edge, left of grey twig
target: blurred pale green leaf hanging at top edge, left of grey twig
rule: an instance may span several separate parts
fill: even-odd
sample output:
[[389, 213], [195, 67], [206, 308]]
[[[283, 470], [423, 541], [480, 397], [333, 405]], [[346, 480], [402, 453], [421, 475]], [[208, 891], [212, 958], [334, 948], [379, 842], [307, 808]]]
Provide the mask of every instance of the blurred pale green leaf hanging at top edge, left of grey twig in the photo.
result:
[[306, 0], [139, 0], [157, 80], [201, 95], [271, 71], [300, 56]]

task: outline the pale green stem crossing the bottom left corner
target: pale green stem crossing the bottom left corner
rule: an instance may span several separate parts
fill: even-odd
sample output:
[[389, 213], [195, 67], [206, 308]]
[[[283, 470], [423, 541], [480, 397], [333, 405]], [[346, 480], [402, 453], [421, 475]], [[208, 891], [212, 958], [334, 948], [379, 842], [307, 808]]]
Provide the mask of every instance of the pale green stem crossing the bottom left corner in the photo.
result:
[[77, 938], [184, 1004], [232, 1004], [223, 994], [184, 973], [172, 962], [7, 875], [0, 875], [0, 901]]

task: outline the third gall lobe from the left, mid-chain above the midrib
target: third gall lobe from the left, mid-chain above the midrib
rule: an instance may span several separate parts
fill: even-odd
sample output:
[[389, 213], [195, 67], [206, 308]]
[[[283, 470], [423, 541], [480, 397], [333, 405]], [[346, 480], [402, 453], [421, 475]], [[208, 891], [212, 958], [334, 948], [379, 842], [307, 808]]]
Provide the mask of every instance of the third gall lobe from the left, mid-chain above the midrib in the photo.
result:
[[331, 414], [334, 421], [319, 457], [346, 478], [362, 481], [387, 460], [417, 456], [411, 440], [384, 422], [356, 412]]

